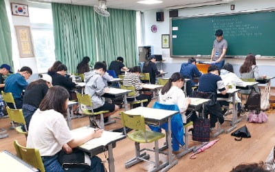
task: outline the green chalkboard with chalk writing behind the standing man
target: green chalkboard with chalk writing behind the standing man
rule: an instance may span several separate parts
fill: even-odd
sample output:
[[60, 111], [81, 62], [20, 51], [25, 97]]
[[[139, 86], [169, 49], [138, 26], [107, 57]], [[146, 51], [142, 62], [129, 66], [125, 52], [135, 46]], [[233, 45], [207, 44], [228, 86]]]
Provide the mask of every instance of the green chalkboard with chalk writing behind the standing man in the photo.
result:
[[210, 55], [218, 29], [228, 41], [227, 56], [275, 56], [274, 11], [171, 19], [171, 56]]

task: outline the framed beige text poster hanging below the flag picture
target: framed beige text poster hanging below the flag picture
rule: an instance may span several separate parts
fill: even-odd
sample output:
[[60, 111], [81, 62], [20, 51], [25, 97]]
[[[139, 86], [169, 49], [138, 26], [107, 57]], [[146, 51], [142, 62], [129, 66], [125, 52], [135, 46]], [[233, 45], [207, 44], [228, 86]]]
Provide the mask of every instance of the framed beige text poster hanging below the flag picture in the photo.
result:
[[32, 35], [30, 34], [30, 26], [15, 25], [17, 34], [17, 44], [20, 57], [34, 57], [34, 49], [32, 46]]

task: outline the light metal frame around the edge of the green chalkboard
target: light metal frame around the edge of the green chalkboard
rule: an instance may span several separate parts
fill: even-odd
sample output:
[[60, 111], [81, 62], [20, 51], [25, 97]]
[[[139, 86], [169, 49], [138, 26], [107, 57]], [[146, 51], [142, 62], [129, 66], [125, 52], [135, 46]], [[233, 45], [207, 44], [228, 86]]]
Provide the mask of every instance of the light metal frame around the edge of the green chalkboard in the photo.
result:
[[[172, 58], [181, 58], [181, 57], [203, 57], [203, 58], [210, 58], [211, 54], [209, 55], [173, 55], [173, 34], [172, 34], [172, 20], [173, 19], [190, 19], [190, 18], [203, 18], [203, 17], [217, 17], [217, 16], [230, 16], [230, 15], [236, 15], [236, 14], [252, 14], [257, 12], [275, 12], [275, 8], [265, 8], [261, 10], [243, 10], [239, 12], [220, 12], [220, 13], [214, 13], [214, 14], [199, 14], [199, 15], [192, 15], [192, 16], [181, 16], [181, 17], [171, 17], [169, 20], [169, 33], [170, 33], [170, 57]], [[213, 39], [214, 41], [214, 39]], [[209, 50], [211, 52], [211, 50]], [[245, 58], [245, 56], [241, 55], [225, 55], [226, 58]], [[274, 58], [274, 56], [256, 56], [261, 58]]]

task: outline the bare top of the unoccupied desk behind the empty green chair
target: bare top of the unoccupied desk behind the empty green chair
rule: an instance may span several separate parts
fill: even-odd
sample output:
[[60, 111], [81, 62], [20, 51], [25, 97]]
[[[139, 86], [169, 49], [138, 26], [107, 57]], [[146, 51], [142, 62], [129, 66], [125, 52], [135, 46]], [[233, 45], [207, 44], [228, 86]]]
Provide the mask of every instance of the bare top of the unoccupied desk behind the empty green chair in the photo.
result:
[[179, 111], [170, 111], [164, 109], [153, 109], [149, 107], [137, 107], [129, 111], [125, 111], [129, 115], [142, 115], [144, 118], [149, 120], [161, 121], [174, 114], [177, 114]]

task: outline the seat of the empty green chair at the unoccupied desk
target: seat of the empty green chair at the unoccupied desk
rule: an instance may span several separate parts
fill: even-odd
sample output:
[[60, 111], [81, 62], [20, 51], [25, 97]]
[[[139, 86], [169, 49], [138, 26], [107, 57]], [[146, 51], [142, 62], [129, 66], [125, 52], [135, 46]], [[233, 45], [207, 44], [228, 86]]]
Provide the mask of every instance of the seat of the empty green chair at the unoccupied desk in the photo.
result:
[[[148, 142], [154, 142], [155, 140], [159, 140], [160, 138], [164, 138], [164, 133], [159, 133], [155, 131], [149, 131], [146, 130], [146, 136]], [[140, 143], [146, 143], [146, 140], [144, 138], [144, 132], [143, 131], [134, 131], [133, 133], [129, 133], [128, 137], [133, 140], [134, 142], [140, 142]]]

